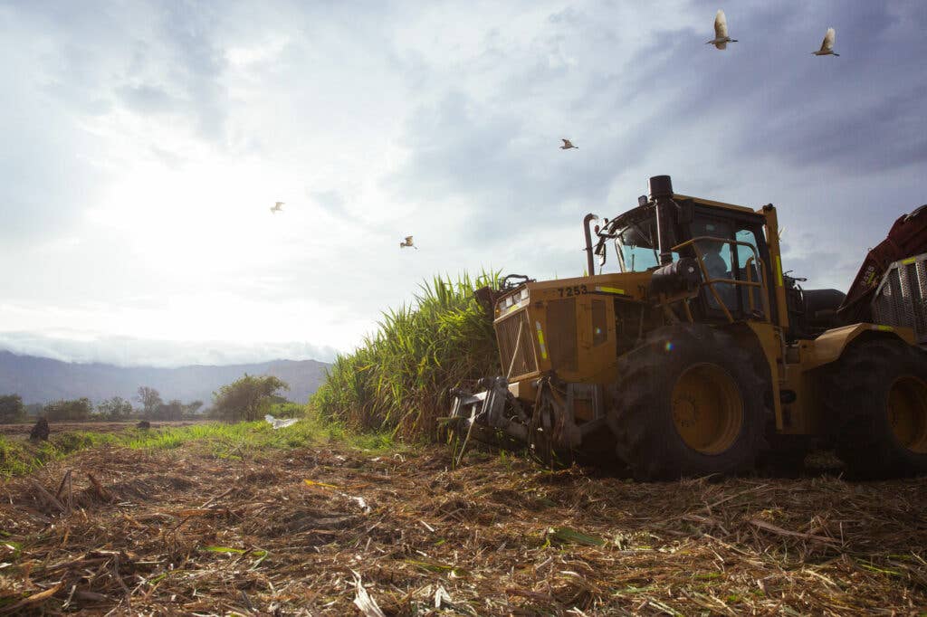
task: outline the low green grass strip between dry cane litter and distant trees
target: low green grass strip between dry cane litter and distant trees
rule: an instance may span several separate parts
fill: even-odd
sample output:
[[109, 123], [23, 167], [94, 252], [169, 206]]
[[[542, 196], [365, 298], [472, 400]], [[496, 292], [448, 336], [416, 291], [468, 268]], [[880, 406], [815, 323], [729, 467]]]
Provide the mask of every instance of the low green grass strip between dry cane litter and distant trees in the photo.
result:
[[0, 436], [0, 477], [33, 472], [52, 460], [90, 447], [114, 446], [139, 450], [170, 450], [193, 446], [220, 458], [258, 456], [269, 450], [293, 449], [339, 443], [371, 452], [396, 447], [386, 432], [358, 434], [342, 423], [324, 421], [310, 414], [283, 429], [273, 430], [264, 421], [227, 424], [211, 422], [177, 428], [140, 430], [127, 428], [121, 433], [74, 432], [53, 434], [49, 441], [33, 443]]

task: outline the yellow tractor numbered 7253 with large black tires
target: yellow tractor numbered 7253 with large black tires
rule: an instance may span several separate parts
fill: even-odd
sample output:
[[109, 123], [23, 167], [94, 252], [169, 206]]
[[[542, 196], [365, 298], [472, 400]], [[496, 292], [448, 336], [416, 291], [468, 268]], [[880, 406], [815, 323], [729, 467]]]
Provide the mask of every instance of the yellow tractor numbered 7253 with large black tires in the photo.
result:
[[[452, 392], [459, 441], [617, 457], [641, 479], [745, 472], [815, 445], [857, 475], [927, 472], [922, 260], [892, 298], [911, 319], [847, 323], [844, 294], [783, 273], [771, 204], [679, 195], [654, 176], [636, 208], [583, 226], [589, 275], [508, 277], [489, 296], [504, 374]], [[618, 271], [595, 274], [612, 250]], [[878, 283], [876, 305], [892, 291], [871, 297]]]

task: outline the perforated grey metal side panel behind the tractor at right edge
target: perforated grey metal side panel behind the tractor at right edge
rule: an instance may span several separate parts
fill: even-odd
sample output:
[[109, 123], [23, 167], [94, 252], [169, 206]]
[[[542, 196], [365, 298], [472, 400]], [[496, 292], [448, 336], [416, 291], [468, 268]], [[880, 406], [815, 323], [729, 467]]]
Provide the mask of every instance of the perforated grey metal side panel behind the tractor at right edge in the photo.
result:
[[893, 263], [872, 299], [872, 316], [877, 323], [913, 328], [919, 343], [927, 339], [925, 259], [927, 255], [920, 255], [909, 263]]

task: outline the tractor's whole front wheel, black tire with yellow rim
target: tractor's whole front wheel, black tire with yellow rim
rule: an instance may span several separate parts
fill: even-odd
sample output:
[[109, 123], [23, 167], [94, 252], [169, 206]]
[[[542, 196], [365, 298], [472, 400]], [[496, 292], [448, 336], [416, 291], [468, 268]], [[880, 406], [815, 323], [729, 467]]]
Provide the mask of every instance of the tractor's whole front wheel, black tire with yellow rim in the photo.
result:
[[641, 480], [733, 474], [764, 444], [766, 391], [749, 351], [706, 325], [654, 331], [618, 361], [608, 422]]

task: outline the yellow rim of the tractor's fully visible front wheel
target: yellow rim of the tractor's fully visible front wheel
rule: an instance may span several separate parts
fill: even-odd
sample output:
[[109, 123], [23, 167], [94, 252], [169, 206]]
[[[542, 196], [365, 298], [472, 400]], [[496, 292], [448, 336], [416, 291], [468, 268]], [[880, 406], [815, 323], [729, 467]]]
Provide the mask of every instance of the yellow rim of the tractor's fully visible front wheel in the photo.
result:
[[694, 364], [673, 386], [673, 423], [686, 446], [720, 454], [741, 433], [743, 399], [733, 378], [717, 364]]

